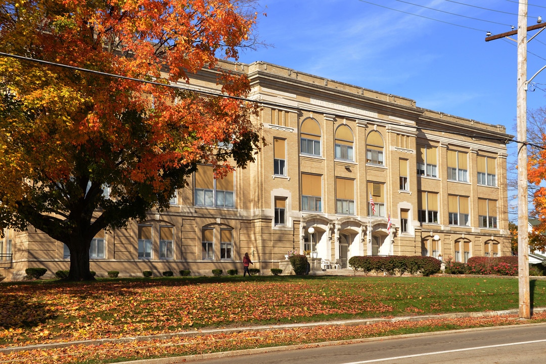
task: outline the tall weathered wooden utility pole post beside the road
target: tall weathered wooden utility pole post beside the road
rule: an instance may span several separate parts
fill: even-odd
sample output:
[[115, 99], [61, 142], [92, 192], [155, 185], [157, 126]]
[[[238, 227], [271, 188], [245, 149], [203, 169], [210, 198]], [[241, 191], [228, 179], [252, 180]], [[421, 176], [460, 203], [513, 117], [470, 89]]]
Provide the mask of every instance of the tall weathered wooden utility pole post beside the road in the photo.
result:
[[529, 202], [527, 201], [527, 0], [518, 11], [518, 281], [519, 317], [531, 318], [529, 294]]

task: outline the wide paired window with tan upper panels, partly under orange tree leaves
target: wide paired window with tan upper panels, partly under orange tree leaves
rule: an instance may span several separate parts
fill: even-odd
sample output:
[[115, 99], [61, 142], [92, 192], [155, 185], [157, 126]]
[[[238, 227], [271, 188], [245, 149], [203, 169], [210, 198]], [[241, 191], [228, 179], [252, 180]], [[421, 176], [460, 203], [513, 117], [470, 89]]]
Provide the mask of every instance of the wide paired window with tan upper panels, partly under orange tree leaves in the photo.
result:
[[235, 207], [234, 190], [233, 173], [216, 180], [212, 166], [199, 165], [199, 170], [195, 172], [195, 205]]

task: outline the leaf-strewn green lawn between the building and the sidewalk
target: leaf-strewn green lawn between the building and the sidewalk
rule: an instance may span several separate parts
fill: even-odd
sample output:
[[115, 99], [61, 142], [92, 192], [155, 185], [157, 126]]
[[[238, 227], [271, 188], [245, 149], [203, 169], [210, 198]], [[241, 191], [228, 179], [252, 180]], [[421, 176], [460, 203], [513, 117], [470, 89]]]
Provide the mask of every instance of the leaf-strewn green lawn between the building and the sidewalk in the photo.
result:
[[[532, 280], [533, 307], [546, 281]], [[506, 277], [241, 276], [0, 285], [0, 346], [155, 335], [202, 327], [518, 308]]]

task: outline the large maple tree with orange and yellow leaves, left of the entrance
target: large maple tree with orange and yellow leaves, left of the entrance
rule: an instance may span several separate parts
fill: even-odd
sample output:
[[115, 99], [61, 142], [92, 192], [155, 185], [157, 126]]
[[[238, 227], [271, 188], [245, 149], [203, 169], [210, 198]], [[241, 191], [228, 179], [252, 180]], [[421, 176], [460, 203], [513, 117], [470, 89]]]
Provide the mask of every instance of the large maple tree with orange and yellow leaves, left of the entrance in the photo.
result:
[[252, 5], [0, 0], [0, 51], [50, 62], [0, 56], [0, 229], [33, 225], [70, 249], [68, 279], [93, 279], [100, 230], [166, 208], [198, 163], [222, 176], [252, 162], [246, 76], [218, 69], [222, 97], [167, 86], [237, 59]]

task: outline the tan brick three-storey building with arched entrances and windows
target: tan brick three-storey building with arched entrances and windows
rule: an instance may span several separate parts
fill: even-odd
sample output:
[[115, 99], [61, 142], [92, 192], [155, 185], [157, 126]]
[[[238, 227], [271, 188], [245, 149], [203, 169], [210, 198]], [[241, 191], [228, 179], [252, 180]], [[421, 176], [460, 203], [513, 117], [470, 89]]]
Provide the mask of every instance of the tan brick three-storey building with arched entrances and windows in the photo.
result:
[[[224, 180], [201, 166], [167, 212], [97, 236], [90, 254], [98, 276], [242, 272], [245, 252], [263, 273], [289, 250], [344, 268], [354, 255], [511, 254], [505, 144], [512, 136], [503, 126], [264, 62], [224, 67], [251, 80], [268, 145]], [[214, 73], [192, 84], [214, 91]], [[10, 232], [0, 249], [13, 254], [6, 272], [14, 279], [28, 266], [68, 269], [63, 244], [33, 228]]]

